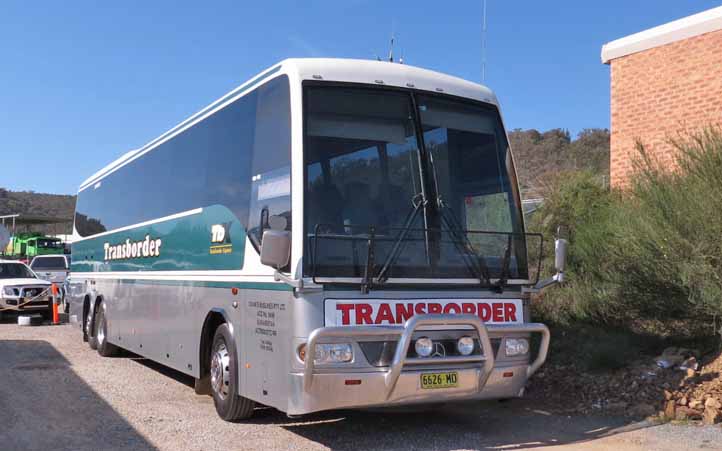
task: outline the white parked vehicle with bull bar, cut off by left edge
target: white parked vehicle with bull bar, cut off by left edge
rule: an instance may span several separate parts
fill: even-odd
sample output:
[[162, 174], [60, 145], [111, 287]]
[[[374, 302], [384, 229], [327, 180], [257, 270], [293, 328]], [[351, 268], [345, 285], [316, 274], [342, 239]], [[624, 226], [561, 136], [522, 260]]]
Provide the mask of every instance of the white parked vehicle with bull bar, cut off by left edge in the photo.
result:
[[0, 260], [0, 316], [8, 312], [38, 312], [52, 317], [50, 285], [25, 263]]

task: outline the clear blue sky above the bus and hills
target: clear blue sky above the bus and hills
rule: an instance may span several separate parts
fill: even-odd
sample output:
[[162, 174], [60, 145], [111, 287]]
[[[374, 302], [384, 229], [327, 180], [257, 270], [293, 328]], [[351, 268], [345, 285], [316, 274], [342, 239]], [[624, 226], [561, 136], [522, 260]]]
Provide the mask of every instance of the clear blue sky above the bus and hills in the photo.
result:
[[[287, 57], [374, 58], [481, 81], [482, 0], [13, 1], [0, 7], [0, 187], [73, 193]], [[609, 126], [602, 44], [719, 1], [488, 0], [507, 126]]]

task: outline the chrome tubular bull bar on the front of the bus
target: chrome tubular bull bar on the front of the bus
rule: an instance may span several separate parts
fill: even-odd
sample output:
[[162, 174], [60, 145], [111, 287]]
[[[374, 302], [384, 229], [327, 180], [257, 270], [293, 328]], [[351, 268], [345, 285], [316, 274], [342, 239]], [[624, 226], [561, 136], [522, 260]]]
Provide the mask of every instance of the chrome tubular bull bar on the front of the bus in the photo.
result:
[[[407, 358], [406, 355], [411, 344], [411, 338], [416, 330], [423, 326], [472, 326], [479, 335], [481, 355], [453, 356], [444, 358]], [[512, 324], [512, 325], [485, 325], [478, 316], [474, 315], [416, 315], [406, 321], [403, 327], [398, 326], [352, 326], [352, 327], [322, 327], [314, 330], [308, 337], [306, 346], [306, 359], [303, 371], [303, 388], [307, 393], [311, 392], [313, 386], [315, 365], [316, 344], [328, 342], [328, 339], [350, 337], [381, 337], [389, 335], [400, 336], [396, 345], [394, 358], [389, 370], [384, 376], [386, 386], [385, 399], [389, 399], [393, 393], [396, 382], [401, 375], [405, 365], [444, 365], [453, 363], [483, 364], [483, 371], [479, 377], [479, 391], [486, 385], [494, 368], [494, 351], [489, 339], [490, 331], [503, 333], [540, 333], [542, 335], [539, 354], [534, 362], [527, 367], [527, 377], [531, 376], [544, 363], [549, 350], [550, 334], [549, 329], [539, 323]]]

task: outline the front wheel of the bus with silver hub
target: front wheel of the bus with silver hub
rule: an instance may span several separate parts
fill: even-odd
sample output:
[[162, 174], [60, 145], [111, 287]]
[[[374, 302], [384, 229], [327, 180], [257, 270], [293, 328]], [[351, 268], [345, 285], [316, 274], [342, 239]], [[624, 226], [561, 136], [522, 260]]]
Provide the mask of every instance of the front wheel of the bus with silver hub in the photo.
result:
[[218, 415], [226, 421], [245, 420], [256, 403], [238, 394], [236, 347], [227, 324], [216, 329], [211, 346], [211, 394]]

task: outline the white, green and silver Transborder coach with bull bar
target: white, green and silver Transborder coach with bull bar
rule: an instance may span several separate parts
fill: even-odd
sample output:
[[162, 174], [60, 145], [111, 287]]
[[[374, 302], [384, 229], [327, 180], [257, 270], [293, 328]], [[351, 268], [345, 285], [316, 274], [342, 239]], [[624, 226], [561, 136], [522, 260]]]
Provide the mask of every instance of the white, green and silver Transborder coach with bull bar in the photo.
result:
[[192, 376], [218, 415], [512, 398], [543, 364], [494, 94], [288, 59], [84, 181], [70, 320]]

